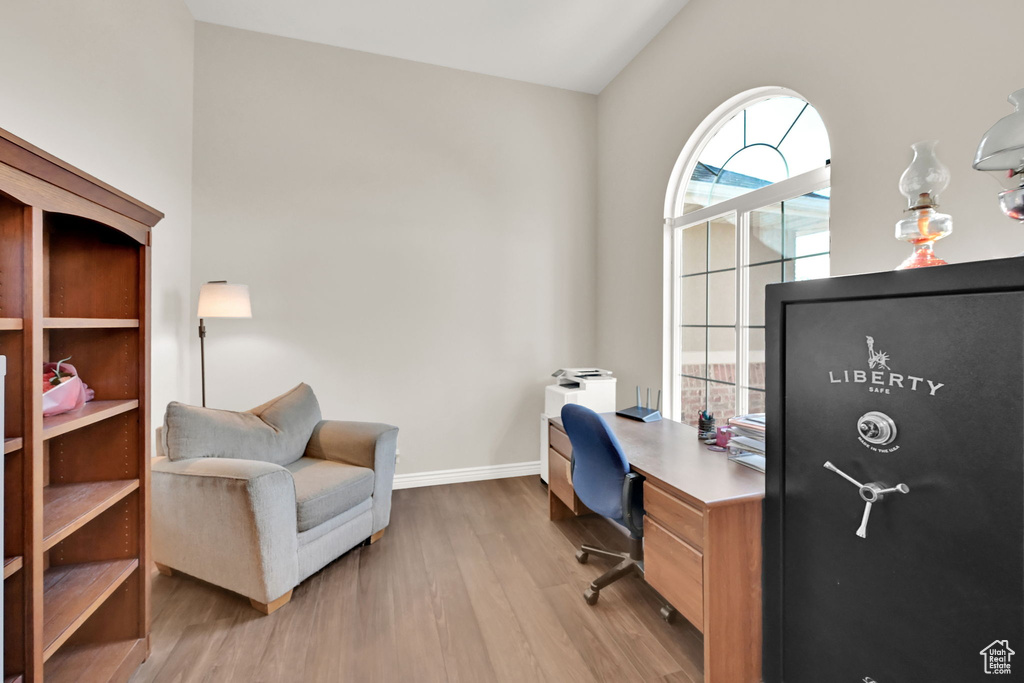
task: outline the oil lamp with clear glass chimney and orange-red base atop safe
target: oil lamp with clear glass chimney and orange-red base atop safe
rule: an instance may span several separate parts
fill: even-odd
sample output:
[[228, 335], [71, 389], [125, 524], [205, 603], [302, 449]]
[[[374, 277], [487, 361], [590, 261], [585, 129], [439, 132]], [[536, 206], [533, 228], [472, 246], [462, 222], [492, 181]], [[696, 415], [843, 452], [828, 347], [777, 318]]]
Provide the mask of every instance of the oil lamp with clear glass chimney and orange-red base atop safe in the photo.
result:
[[913, 253], [897, 270], [946, 264], [933, 249], [937, 240], [953, 231], [952, 218], [935, 210], [939, 194], [949, 184], [949, 169], [935, 156], [938, 142], [925, 140], [910, 145], [913, 161], [899, 179], [899, 190], [912, 215], [896, 223], [896, 239], [913, 245]]

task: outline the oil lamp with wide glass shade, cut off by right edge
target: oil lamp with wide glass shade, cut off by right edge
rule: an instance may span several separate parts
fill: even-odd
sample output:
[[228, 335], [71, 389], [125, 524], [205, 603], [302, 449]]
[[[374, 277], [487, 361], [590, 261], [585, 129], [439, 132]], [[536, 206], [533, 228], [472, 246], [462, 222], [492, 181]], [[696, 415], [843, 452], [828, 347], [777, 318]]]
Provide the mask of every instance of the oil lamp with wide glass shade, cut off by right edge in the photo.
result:
[[1011, 218], [1024, 222], [1024, 89], [1007, 100], [1014, 113], [995, 122], [981, 138], [974, 168], [994, 171], [1002, 185], [999, 208]]

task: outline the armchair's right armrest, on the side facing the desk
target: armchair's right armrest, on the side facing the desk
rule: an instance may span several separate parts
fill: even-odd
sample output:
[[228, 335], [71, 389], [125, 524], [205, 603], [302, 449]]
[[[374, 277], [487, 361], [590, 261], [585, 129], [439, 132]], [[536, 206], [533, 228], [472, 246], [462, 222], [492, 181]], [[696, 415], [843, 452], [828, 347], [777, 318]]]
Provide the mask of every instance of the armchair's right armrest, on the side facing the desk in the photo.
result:
[[333, 460], [374, 471], [373, 533], [391, 519], [391, 488], [394, 484], [398, 428], [376, 422], [322, 420], [306, 444], [309, 458]]

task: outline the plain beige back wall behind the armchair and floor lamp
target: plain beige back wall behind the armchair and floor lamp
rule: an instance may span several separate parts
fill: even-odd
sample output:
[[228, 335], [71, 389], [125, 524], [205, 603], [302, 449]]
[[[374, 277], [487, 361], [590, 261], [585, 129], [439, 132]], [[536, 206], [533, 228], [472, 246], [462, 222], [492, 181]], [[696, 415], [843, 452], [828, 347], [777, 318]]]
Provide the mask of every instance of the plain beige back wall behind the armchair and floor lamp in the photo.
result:
[[196, 41], [194, 300], [244, 283], [254, 314], [208, 321], [208, 404], [304, 381], [328, 418], [398, 425], [399, 473], [536, 460], [548, 375], [594, 357], [596, 98]]

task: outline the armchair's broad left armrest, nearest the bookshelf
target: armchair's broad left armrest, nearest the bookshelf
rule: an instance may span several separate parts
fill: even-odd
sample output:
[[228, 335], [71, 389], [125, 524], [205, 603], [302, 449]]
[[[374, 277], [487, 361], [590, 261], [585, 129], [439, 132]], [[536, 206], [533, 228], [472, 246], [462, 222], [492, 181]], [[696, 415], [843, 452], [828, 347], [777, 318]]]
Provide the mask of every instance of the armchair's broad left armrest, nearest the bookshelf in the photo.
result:
[[295, 483], [272, 463], [153, 461], [153, 558], [271, 602], [298, 583]]

